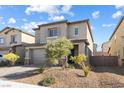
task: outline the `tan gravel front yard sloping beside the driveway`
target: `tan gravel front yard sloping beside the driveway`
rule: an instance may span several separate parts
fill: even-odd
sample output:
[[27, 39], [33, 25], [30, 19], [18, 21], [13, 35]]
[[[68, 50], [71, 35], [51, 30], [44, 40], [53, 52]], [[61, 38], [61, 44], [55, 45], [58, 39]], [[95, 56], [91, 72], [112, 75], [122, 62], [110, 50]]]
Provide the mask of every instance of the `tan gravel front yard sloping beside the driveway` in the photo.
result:
[[124, 68], [96, 67], [88, 77], [80, 69], [61, 69], [52, 67], [42, 74], [27, 76], [14, 81], [37, 85], [45, 77], [54, 77], [53, 88], [122, 88], [124, 87]]

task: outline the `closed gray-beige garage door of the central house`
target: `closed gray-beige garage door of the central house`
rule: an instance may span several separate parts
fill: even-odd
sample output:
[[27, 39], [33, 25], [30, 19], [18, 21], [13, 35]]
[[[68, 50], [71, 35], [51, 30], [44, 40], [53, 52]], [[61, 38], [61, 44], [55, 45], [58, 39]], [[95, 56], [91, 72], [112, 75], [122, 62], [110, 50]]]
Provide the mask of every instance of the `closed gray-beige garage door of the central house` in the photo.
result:
[[33, 59], [33, 64], [44, 64], [46, 62], [45, 49], [33, 49], [32, 59]]

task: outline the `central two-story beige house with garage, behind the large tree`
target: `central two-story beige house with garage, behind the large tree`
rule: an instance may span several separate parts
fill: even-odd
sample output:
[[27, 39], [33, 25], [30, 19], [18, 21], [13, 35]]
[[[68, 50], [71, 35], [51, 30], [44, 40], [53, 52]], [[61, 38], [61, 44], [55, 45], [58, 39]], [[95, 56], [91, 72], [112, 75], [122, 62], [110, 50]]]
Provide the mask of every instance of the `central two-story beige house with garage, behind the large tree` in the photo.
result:
[[26, 63], [41, 64], [45, 62], [47, 60], [46, 44], [59, 37], [66, 37], [74, 44], [71, 55], [84, 53], [88, 58], [93, 55], [93, 36], [89, 20], [47, 23], [38, 25], [38, 28], [34, 30], [36, 44], [26, 46]]

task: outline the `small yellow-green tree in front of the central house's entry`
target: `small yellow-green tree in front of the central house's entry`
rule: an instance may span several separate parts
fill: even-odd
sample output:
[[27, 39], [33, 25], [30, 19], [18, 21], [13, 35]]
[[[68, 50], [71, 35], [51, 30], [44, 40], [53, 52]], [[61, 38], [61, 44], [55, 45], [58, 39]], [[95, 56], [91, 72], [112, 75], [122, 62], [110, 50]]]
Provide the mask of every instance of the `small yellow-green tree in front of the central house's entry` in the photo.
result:
[[84, 54], [79, 54], [78, 56], [71, 57], [71, 60], [82, 67], [84, 71], [84, 76], [87, 77], [87, 75], [89, 74], [90, 68], [89, 66], [85, 65], [86, 56]]

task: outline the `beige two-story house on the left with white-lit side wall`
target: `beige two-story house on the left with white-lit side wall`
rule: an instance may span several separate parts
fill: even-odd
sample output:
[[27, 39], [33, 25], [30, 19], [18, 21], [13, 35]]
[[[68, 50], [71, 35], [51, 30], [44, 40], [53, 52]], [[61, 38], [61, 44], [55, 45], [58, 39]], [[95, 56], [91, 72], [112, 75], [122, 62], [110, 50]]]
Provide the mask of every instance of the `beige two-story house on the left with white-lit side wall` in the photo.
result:
[[24, 59], [25, 53], [22, 46], [31, 43], [35, 43], [35, 36], [22, 30], [6, 27], [0, 31], [0, 55], [12, 50]]

